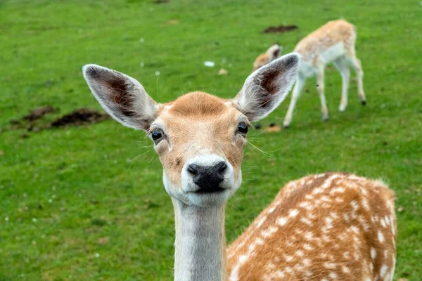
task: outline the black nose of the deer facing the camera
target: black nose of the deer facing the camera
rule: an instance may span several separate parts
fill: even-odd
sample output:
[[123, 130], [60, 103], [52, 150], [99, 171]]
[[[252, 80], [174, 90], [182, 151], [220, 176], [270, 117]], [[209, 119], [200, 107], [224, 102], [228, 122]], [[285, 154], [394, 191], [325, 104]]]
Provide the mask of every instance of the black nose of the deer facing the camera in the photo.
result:
[[221, 191], [219, 183], [224, 180], [224, 171], [227, 165], [224, 161], [218, 162], [214, 166], [199, 166], [191, 164], [188, 166], [188, 172], [193, 176], [193, 182], [199, 186], [197, 192], [216, 192]]

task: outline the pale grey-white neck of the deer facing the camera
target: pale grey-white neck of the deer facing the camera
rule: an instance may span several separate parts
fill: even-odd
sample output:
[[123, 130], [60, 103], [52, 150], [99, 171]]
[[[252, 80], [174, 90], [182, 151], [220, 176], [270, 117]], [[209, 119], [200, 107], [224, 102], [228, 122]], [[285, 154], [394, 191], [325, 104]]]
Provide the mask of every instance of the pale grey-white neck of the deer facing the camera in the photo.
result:
[[175, 281], [225, 281], [224, 205], [195, 207], [172, 199]]

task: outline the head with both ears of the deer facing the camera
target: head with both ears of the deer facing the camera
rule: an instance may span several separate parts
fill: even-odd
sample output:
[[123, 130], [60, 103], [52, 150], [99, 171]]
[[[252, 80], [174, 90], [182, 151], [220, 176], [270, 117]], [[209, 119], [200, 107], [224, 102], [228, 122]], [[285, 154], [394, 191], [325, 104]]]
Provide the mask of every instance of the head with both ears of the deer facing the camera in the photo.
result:
[[193, 92], [164, 104], [125, 74], [98, 65], [85, 65], [83, 71], [111, 117], [153, 140], [167, 192], [185, 204], [206, 206], [223, 204], [241, 185], [250, 122], [266, 117], [286, 98], [298, 63], [293, 53], [261, 67], [231, 100]]

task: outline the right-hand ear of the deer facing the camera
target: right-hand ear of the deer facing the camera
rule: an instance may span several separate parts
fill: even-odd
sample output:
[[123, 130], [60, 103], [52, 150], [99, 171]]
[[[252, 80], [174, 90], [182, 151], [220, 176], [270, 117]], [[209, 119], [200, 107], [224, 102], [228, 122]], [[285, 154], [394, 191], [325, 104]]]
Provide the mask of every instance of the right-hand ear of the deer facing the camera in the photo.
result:
[[250, 121], [267, 117], [286, 98], [298, 77], [298, 53], [283, 55], [250, 74], [234, 104]]

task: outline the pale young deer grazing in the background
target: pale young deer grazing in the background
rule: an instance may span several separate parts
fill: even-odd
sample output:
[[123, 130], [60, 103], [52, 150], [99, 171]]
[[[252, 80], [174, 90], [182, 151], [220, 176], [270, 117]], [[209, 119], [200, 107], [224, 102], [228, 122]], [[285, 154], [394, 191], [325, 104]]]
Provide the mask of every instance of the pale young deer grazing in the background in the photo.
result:
[[[364, 93], [364, 72], [362, 63], [356, 56], [357, 29], [346, 20], [332, 20], [319, 27], [307, 37], [299, 41], [295, 47], [295, 52], [300, 53], [301, 62], [298, 80], [293, 88], [292, 98], [283, 127], [287, 129], [293, 118], [293, 111], [300, 96], [305, 81], [309, 77], [316, 76], [316, 88], [321, 100], [322, 120], [328, 121], [328, 107], [325, 98], [324, 72], [326, 65], [333, 63], [340, 72], [342, 79], [341, 100], [338, 110], [344, 112], [347, 107], [347, 91], [350, 84], [350, 66], [357, 75], [357, 93], [362, 105], [366, 105]], [[253, 71], [279, 58], [282, 48], [279, 44], [274, 44], [269, 49], [255, 59]]]

